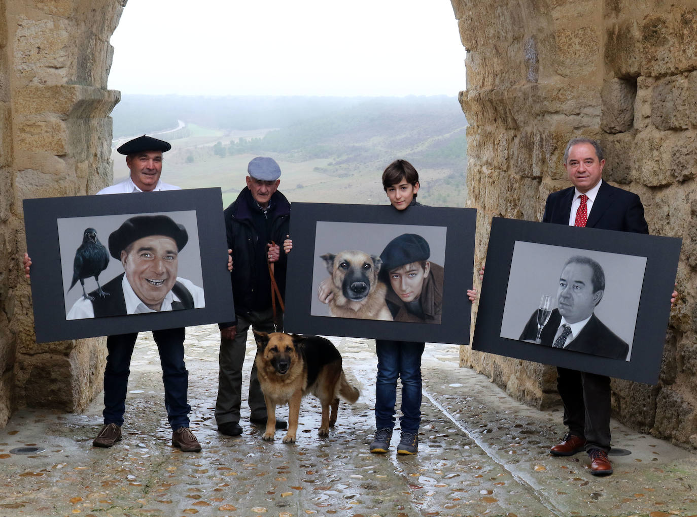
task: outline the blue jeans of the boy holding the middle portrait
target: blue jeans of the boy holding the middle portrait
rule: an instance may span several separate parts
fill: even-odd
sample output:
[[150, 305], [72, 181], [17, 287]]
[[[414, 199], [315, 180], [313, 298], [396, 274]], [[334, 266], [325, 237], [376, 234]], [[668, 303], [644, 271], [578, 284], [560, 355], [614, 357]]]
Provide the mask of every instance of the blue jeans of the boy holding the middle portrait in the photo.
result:
[[424, 343], [375, 340], [378, 377], [375, 383], [375, 426], [395, 427], [397, 377], [401, 378], [402, 432], [417, 433], [421, 423], [421, 356]]

